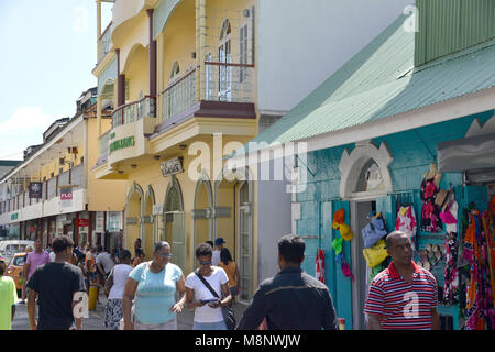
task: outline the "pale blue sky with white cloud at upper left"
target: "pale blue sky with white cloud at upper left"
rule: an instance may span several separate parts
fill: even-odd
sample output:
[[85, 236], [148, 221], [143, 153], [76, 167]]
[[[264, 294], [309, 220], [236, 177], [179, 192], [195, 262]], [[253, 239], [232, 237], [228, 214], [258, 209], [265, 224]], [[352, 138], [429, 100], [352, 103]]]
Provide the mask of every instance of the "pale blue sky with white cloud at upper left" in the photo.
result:
[[0, 0], [0, 160], [22, 160], [97, 86], [96, 23], [95, 0]]

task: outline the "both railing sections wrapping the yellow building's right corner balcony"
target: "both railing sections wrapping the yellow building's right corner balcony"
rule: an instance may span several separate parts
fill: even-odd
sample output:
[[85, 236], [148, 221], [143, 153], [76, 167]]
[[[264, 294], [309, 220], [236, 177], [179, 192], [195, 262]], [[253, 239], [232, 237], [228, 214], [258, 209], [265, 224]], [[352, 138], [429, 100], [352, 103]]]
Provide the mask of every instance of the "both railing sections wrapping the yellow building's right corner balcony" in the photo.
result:
[[[210, 101], [253, 102], [254, 66], [232, 63], [205, 63], [200, 97]], [[185, 111], [196, 102], [196, 69], [170, 84], [160, 96], [158, 123]]]

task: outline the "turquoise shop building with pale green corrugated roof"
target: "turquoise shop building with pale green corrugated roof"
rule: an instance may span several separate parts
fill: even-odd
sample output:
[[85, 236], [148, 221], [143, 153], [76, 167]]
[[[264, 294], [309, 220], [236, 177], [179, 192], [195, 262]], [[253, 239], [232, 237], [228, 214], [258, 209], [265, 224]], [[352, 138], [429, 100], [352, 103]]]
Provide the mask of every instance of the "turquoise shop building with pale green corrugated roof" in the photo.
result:
[[[395, 230], [402, 206], [415, 212], [415, 261], [428, 265], [440, 287], [442, 329], [464, 328], [462, 304], [442, 299], [452, 230], [421, 227], [421, 183], [437, 175], [439, 189], [453, 195], [461, 243], [463, 209], [487, 210], [495, 194], [494, 13], [494, 1], [416, 1], [411, 15], [399, 16], [248, 148], [252, 157], [304, 144], [305, 157], [293, 160], [300, 190], [293, 194], [293, 232], [306, 240], [307, 273], [316, 275], [323, 251], [324, 282], [348, 330], [365, 329], [363, 307], [376, 274], [363, 256], [362, 229], [382, 212], [387, 231]], [[261, 142], [265, 148], [253, 147]], [[353, 277], [332, 248], [339, 209], [354, 233], [342, 251]], [[438, 257], [424, 263], [421, 253]]]

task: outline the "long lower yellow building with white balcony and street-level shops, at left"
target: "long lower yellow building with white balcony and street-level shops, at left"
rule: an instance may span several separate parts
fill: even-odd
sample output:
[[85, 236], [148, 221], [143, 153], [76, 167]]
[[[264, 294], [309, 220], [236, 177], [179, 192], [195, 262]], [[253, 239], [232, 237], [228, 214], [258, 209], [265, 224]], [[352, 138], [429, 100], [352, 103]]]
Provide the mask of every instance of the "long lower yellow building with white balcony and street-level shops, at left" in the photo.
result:
[[[120, 245], [123, 182], [97, 180], [90, 169], [100, 152], [96, 107], [96, 88], [82, 92], [76, 114], [56, 120], [0, 180], [0, 226], [15, 228], [21, 239], [42, 239], [44, 248], [62, 234], [76, 245]], [[101, 125], [111, 124], [110, 112], [102, 110]], [[103, 198], [106, 191], [114, 196]]]

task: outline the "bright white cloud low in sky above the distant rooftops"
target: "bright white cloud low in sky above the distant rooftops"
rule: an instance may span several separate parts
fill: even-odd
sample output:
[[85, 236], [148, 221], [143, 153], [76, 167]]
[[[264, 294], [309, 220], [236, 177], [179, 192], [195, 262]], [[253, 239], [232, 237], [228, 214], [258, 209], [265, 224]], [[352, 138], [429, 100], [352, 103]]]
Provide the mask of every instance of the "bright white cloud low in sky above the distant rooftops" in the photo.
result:
[[0, 122], [0, 158], [22, 158], [23, 151], [43, 142], [43, 132], [55, 121], [41, 107], [24, 107]]

